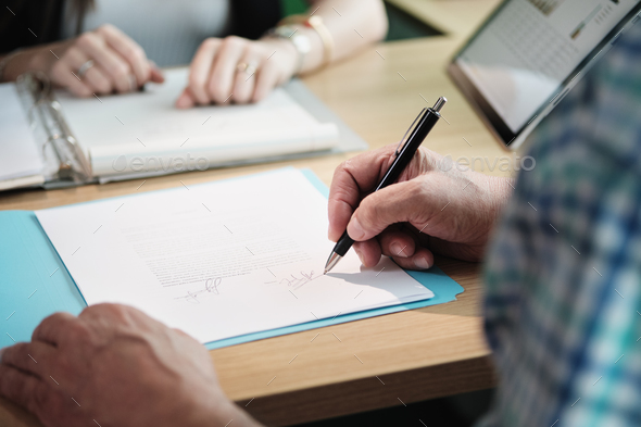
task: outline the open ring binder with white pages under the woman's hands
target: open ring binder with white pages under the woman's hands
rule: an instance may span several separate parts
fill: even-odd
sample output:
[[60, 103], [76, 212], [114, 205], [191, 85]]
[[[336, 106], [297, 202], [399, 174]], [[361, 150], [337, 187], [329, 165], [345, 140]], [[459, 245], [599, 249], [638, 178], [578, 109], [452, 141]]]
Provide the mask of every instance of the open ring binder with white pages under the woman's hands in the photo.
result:
[[189, 71], [167, 70], [164, 76], [162, 85], [149, 83], [144, 90], [103, 100], [76, 99], [37, 72], [0, 85], [13, 114], [4, 116], [0, 159], [7, 153], [5, 162], [15, 165], [4, 175], [0, 171], [0, 191], [104, 184], [367, 147], [299, 80], [256, 104], [177, 110]]

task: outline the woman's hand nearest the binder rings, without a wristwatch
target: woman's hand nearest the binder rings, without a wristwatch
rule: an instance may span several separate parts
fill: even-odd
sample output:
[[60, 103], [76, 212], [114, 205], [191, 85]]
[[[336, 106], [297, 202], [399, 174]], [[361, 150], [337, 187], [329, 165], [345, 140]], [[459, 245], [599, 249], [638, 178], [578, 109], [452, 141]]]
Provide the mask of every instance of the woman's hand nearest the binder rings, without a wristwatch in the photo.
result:
[[34, 70], [45, 72], [54, 85], [85, 98], [129, 92], [147, 81], [164, 80], [142, 48], [113, 25], [21, 52], [7, 65], [5, 77], [14, 79]]

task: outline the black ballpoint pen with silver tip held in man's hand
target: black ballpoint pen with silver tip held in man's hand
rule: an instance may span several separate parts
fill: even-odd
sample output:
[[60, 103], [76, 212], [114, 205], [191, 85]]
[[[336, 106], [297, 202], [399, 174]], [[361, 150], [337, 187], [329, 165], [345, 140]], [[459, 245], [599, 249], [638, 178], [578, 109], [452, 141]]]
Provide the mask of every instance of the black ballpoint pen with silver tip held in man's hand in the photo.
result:
[[[439, 118], [441, 118], [440, 111], [443, 105], [448, 102], [448, 100], [443, 97], [439, 98], [437, 103], [431, 109], [423, 109], [418, 116], [414, 120], [401, 142], [399, 142], [399, 147], [405, 141], [405, 137], [407, 134], [410, 136], [406, 139], [406, 142], [403, 143], [403, 147], [400, 149], [397, 148], [395, 151], [395, 159], [388, 172], [385, 174], [378, 186], [374, 191], [378, 191], [381, 188], [385, 188], [389, 185], [392, 185], [399, 179], [401, 173], [407, 167], [416, 150], [423, 143], [431, 128], [437, 124]], [[416, 125], [416, 126], [414, 126]], [[348, 231], [342, 234], [340, 239], [336, 242], [329, 259], [327, 260], [327, 264], [325, 264], [325, 271], [323, 274], [329, 273], [331, 268], [348, 253], [350, 248], [354, 244], [354, 240], [350, 236], [348, 236]]]

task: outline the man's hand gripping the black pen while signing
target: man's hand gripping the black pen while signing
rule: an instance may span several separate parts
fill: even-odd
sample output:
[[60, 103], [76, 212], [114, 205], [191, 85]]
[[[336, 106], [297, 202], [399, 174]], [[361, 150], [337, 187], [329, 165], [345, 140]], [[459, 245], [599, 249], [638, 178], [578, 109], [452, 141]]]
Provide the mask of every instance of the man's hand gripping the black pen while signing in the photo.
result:
[[419, 149], [399, 183], [372, 193], [393, 161], [397, 145], [342, 163], [329, 190], [329, 239], [348, 230], [365, 266], [381, 254], [401, 267], [425, 269], [433, 253], [480, 261], [501, 208], [507, 178], [462, 172], [453, 161]]

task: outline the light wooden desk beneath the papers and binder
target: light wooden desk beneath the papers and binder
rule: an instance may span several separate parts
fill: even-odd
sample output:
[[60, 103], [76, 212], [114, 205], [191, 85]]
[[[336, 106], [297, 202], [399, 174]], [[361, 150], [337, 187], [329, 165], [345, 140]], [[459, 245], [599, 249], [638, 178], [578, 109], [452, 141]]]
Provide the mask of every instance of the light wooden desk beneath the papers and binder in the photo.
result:
[[[426, 147], [454, 159], [504, 155], [443, 73], [457, 42], [437, 37], [380, 45], [305, 83], [372, 148], [398, 141], [426, 105], [422, 96], [431, 103], [442, 95], [449, 99], [443, 116], [450, 124], [441, 121]], [[288, 164], [311, 167], [329, 185], [335, 167], [352, 155]], [[190, 185], [284, 165], [164, 176], [148, 179], [138, 192], [178, 187], [179, 179]], [[128, 194], [141, 184], [4, 193], [0, 209], [34, 210]], [[478, 265], [443, 259], [437, 264], [465, 288], [457, 301], [214, 350], [223, 388], [259, 419], [289, 425], [491, 387]], [[4, 402], [0, 426], [5, 425], [37, 424]]]

